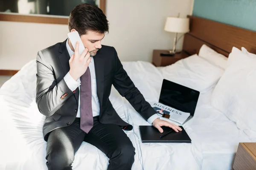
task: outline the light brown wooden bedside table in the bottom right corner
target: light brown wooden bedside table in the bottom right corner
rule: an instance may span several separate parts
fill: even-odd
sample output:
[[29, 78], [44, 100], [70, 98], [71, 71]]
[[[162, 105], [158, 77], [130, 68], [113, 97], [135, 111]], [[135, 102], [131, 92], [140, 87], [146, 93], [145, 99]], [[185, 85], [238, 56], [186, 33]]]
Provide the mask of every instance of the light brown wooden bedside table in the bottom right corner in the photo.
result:
[[239, 143], [234, 170], [256, 170], [256, 143]]

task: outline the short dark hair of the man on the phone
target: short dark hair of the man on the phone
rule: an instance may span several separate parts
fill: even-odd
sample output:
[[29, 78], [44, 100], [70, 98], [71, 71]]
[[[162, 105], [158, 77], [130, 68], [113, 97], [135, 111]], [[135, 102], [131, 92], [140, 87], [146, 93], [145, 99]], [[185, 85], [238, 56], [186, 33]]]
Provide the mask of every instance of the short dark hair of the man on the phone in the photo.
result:
[[68, 28], [70, 31], [75, 29], [80, 36], [89, 30], [105, 33], [108, 32], [108, 20], [100, 8], [85, 3], [76, 6], [71, 11]]

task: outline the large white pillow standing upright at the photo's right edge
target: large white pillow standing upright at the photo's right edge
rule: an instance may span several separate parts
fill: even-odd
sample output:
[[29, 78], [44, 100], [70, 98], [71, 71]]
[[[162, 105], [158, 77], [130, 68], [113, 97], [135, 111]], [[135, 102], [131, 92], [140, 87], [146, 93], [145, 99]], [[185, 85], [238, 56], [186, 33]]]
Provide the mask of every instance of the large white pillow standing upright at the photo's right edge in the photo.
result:
[[211, 104], [256, 139], [256, 58], [233, 47], [229, 65], [216, 85]]

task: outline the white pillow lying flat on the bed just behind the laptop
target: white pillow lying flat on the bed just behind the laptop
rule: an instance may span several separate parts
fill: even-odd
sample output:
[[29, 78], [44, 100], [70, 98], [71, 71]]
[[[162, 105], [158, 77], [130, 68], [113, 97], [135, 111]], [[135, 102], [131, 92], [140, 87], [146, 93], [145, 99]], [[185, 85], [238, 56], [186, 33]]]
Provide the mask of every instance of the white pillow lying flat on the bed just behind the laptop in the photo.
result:
[[215, 86], [224, 73], [222, 68], [212, 65], [206, 59], [198, 57], [197, 54], [163, 67], [160, 71], [164, 79], [200, 92], [205, 92]]

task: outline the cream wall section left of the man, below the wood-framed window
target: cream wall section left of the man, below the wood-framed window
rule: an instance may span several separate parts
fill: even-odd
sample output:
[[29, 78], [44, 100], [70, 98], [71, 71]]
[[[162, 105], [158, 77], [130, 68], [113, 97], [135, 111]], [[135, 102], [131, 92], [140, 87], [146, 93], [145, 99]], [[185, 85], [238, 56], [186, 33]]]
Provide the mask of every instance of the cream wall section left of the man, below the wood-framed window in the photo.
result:
[[19, 70], [37, 52], [64, 41], [66, 25], [0, 22], [0, 69]]

